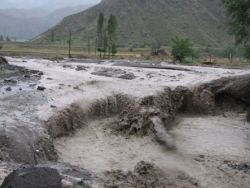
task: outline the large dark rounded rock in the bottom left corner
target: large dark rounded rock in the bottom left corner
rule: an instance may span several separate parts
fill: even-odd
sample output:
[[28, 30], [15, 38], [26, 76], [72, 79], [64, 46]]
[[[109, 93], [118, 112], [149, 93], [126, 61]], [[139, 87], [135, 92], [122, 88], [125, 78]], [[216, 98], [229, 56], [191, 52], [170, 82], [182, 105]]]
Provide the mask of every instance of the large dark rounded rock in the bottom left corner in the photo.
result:
[[62, 188], [61, 177], [56, 169], [33, 167], [14, 170], [0, 188]]

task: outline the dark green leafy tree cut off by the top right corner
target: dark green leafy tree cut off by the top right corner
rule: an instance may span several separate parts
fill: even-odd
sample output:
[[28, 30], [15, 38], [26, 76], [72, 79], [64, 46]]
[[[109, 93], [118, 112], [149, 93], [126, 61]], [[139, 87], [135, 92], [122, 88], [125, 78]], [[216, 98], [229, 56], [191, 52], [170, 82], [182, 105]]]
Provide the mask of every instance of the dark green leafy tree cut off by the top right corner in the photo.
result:
[[242, 44], [244, 55], [250, 59], [250, 0], [222, 0], [229, 17], [225, 26], [230, 35], [235, 37], [235, 44]]

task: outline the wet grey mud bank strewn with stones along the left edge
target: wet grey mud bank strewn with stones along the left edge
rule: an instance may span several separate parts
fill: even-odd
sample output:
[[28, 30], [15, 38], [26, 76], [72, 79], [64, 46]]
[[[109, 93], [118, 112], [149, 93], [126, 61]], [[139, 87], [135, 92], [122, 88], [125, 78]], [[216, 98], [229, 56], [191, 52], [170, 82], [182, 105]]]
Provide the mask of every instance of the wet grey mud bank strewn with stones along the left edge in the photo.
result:
[[41, 75], [38, 70], [0, 65], [0, 160], [29, 164], [57, 160], [47, 126], [36, 114], [38, 105], [46, 102], [35, 87]]

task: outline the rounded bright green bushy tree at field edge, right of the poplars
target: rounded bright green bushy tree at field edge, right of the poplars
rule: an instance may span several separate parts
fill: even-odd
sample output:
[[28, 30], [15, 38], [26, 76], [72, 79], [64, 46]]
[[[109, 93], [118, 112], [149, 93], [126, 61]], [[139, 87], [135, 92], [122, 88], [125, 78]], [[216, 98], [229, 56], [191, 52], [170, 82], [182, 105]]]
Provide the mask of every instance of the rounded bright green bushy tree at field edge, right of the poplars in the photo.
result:
[[193, 43], [191, 43], [189, 38], [179, 38], [176, 36], [172, 40], [174, 42], [174, 45], [172, 46], [171, 53], [176, 60], [184, 62], [185, 58], [193, 57]]

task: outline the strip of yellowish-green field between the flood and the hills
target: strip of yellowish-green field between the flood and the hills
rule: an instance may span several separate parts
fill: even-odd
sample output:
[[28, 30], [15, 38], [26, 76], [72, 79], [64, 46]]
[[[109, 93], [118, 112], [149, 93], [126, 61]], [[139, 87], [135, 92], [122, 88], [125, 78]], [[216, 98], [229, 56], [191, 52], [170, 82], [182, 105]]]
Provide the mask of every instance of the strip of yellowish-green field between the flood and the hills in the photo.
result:
[[[0, 55], [4, 56], [31, 56], [31, 57], [46, 57], [46, 58], [65, 58], [69, 55], [69, 47], [66, 45], [41, 45], [29, 42], [1, 42], [3, 48], [0, 50]], [[140, 59], [140, 60], [171, 60], [171, 48], [162, 47], [165, 50], [165, 55], [152, 56], [150, 48], [134, 48], [129, 51], [128, 48], [118, 48], [118, 53], [115, 59]], [[140, 58], [136, 58], [136, 54], [140, 54]], [[88, 47], [71, 46], [71, 55], [75, 58], [99, 58], [99, 52], [95, 53], [95, 47], [90, 47], [90, 54]], [[108, 58], [108, 57], [106, 57]], [[112, 58], [112, 57], [110, 57]], [[195, 59], [194, 63], [189, 65], [200, 65], [204, 61], [210, 61], [207, 56], [202, 56]], [[249, 66], [249, 63], [240, 58], [235, 58], [233, 64], [229, 63], [227, 58], [219, 58], [212, 56], [211, 61], [216, 65], [225, 66]]]

